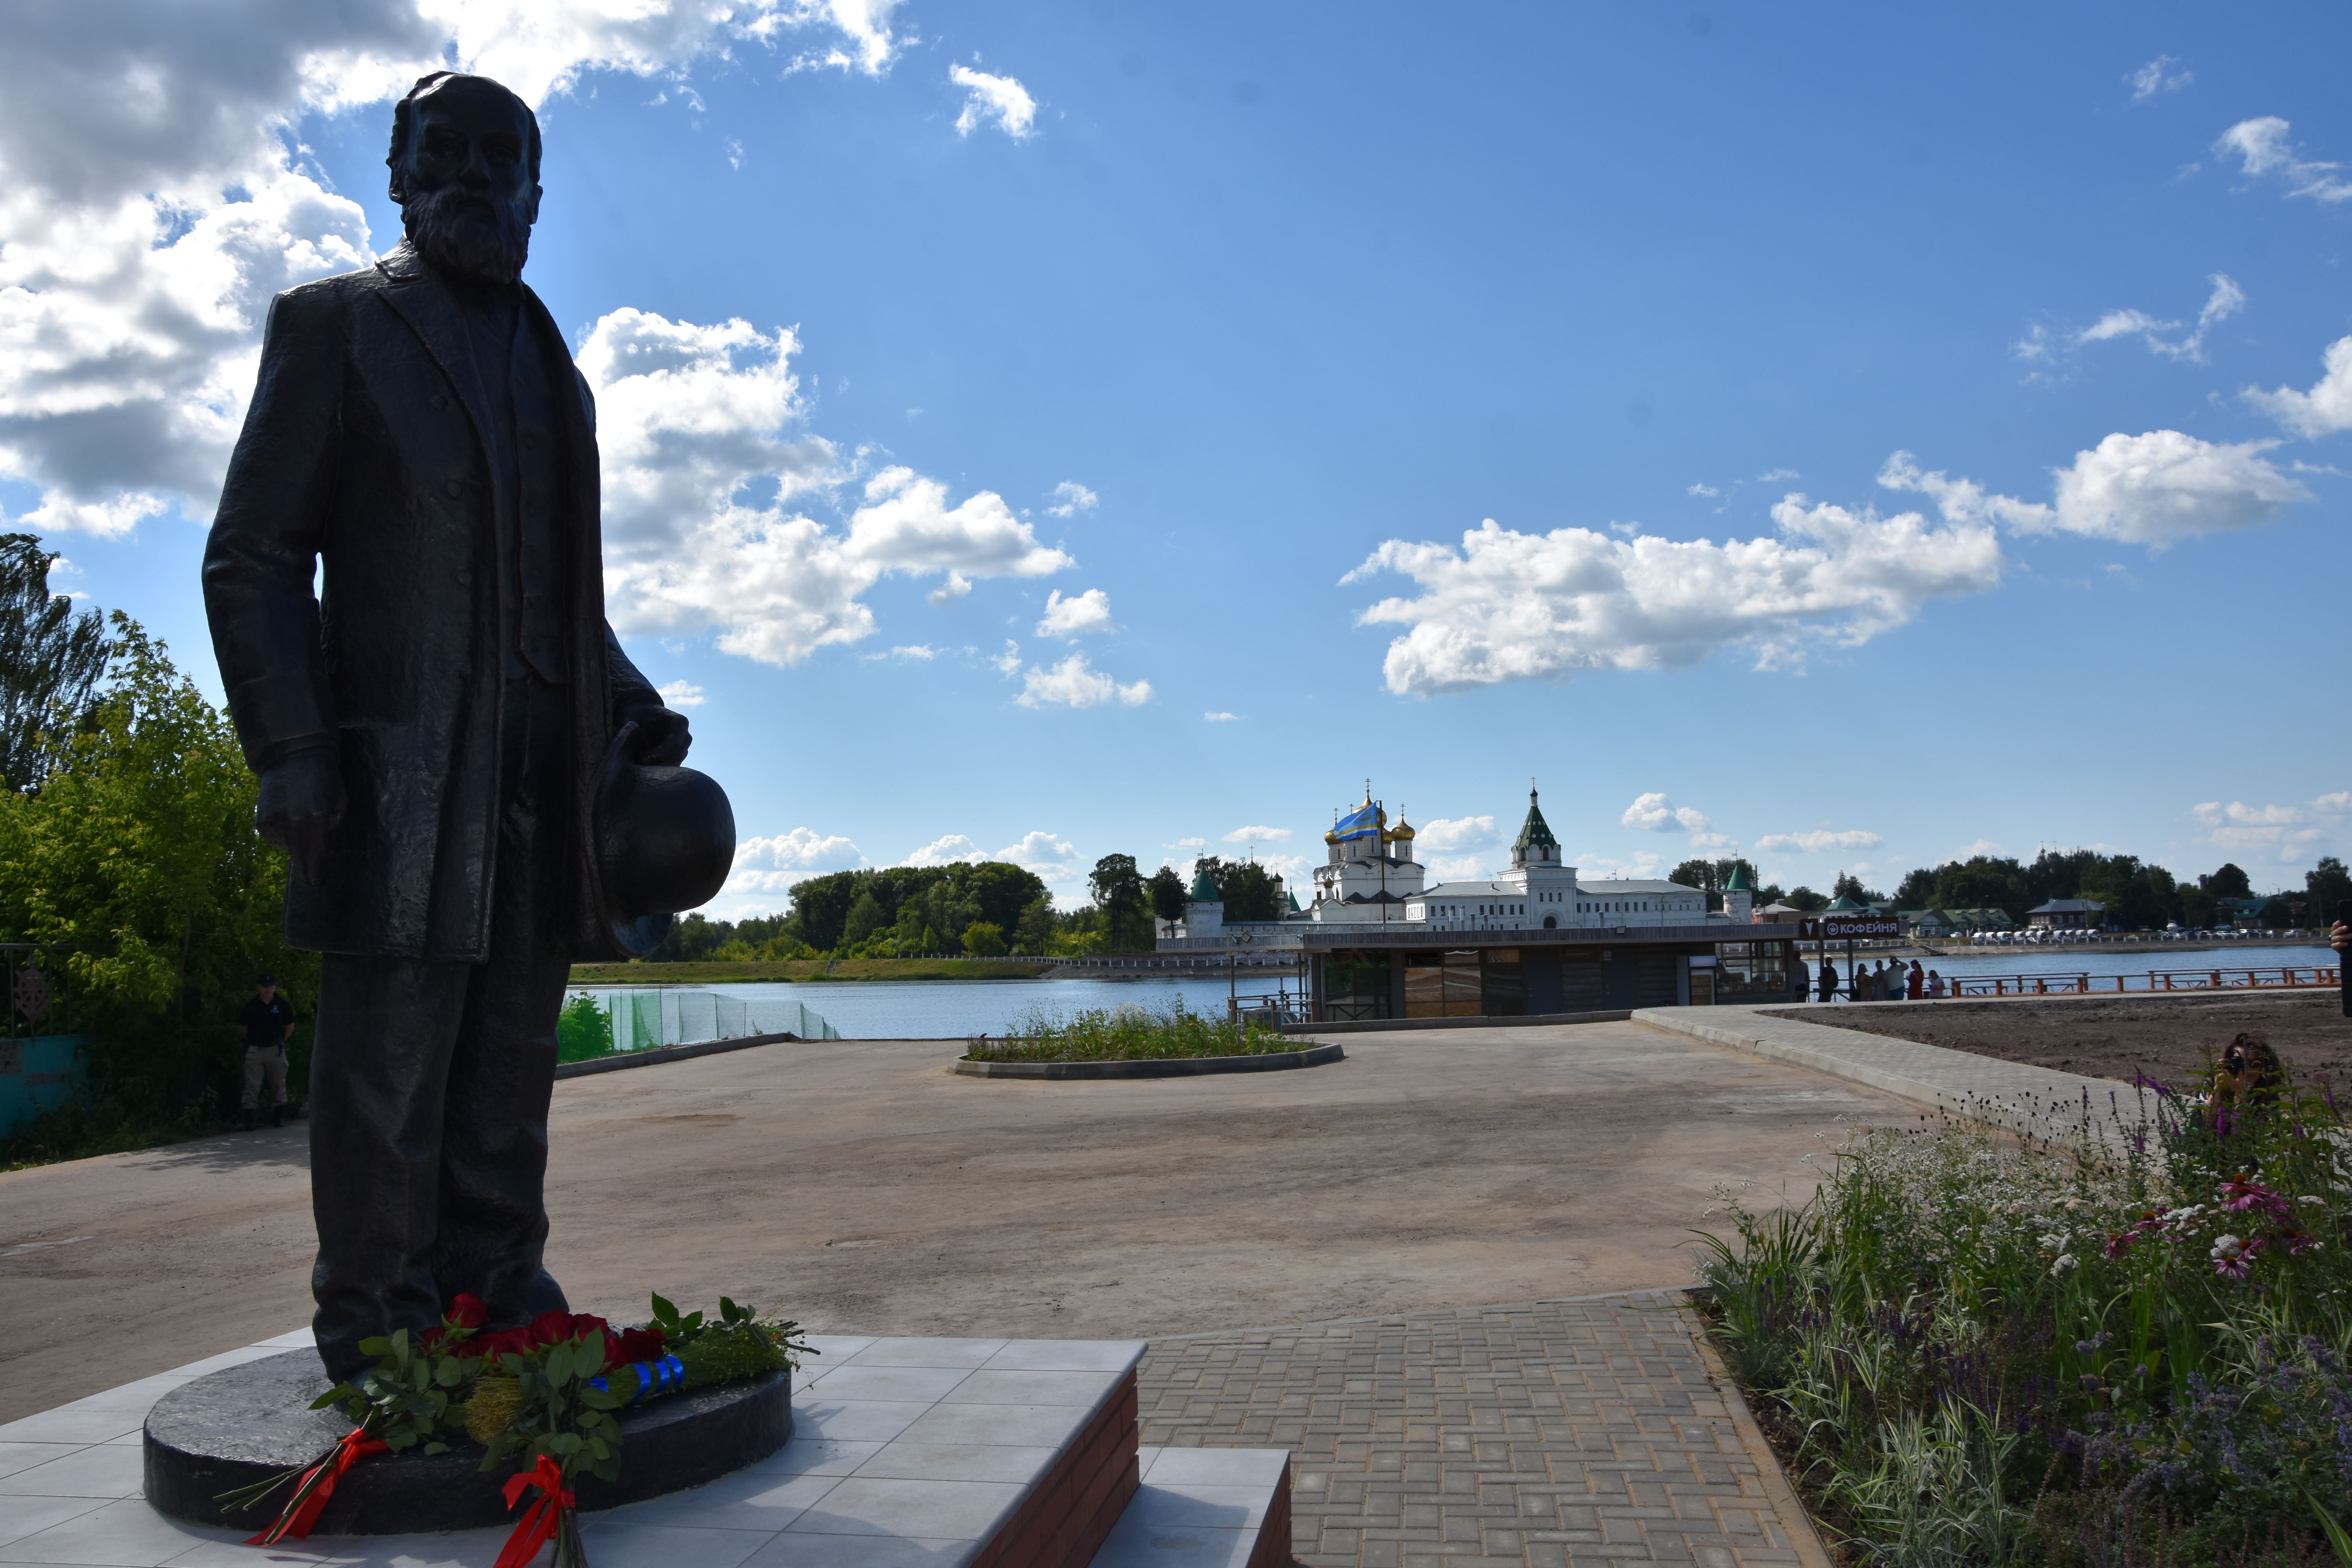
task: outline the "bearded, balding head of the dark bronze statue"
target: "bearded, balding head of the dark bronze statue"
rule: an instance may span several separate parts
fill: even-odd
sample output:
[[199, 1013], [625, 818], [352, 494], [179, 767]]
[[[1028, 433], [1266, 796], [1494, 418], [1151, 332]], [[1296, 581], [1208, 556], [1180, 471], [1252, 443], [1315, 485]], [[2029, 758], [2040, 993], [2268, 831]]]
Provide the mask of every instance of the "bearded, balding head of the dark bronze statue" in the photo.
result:
[[522, 103], [482, 78], [449, 78], [414, 101], [400, 221], [440, 273], [515, 282], [532, 254], [539, 186]]

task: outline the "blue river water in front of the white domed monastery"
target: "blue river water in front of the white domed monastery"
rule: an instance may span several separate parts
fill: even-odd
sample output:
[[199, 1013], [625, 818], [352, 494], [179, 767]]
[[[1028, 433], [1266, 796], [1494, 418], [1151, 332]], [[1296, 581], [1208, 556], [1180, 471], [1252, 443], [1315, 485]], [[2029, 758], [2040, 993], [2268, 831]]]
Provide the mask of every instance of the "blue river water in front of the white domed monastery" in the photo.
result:
[[[1846, 954], [1832, 950], [1844, 973]], [[1813, 961], [1806, 950], [1806, 961]], [[2150, 969], [2277, 969], [2284, 964], [2336, 964], [2326, 947], [2152, 947], [2143, 952], [2070, 952], [2009, 950], [1966, 952], [1922, 966], [1945, 976], [2143, 976]], [[1242, 994], [1265, 994], [1284, 985], [1275, 976], [1244, 978]], [[2093, 980], [2096, 985], [2096, 980]], [[1298, 980], [1289, 980], [1291, 992]], [[612, 987], [583, 987], [597, 999]], [[649, 990], [649, 987], [630, 987]], [[1164, 1011], [1183, 1001], [1195, 1013], [1223, 1018], [1225, 980], [1138, 978], [1138, 980], [750, 980], [741, 985], [689, 987], [717, 990], [743, 1001], [800, 1001], [821, 1013], [844, 1039], [964, 1039], [971, 1034], [1007, 1034], [1037, 1016], [1068, 1016], [1087, 1009], [1143, 1006]]]

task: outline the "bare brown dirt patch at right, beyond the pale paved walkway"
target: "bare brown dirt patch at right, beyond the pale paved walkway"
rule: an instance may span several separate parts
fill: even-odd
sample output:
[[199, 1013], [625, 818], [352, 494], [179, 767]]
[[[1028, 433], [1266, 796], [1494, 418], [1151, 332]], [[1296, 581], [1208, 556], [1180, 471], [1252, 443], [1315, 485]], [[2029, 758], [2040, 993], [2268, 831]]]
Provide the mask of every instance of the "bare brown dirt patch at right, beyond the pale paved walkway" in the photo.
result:
[[1863, 1001], [1773, 1009], [1771, 1016], [2126, 1084], [2133, 1072], [2164, 1084], [2199, 1081], [2209, 1044], [2220, 1053], [2239, 1030], [2263, 1030], [2298, 1079], [2336, 1091], [2352, 1084], [2352, 1018], [2343, 1016], [2333, 987], [2298, 997]]

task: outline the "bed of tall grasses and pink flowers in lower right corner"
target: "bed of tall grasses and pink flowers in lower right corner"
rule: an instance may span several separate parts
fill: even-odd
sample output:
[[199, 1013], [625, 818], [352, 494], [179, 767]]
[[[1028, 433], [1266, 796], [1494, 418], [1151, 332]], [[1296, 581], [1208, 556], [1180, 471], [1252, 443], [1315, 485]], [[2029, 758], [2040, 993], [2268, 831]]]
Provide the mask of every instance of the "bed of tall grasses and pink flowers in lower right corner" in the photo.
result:
[[2345, 1121], [2131, 1110], [1863, 1131], [1804, 1206], [1710, 1211], [1710, 1331], [1851, 1561], [2352, 1566]]

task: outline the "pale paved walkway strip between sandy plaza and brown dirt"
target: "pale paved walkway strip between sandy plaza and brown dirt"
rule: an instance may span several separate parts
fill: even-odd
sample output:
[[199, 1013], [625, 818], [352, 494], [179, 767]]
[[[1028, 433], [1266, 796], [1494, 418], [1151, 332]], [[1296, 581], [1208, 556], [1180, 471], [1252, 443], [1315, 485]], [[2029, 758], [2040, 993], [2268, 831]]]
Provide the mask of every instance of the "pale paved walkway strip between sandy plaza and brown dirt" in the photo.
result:
[[[1780, 1009], [1785, 1004], [1764, 1006]], [[1764, 1006], [1656, 1006], [1635, 1009], [1632, 1018], [1748, 1056], [1884, 1088], [1915, 1105], [2006, 1131], [2058, 1135], [2079, 1124], [2089, 1110], [2093, 1135], [2107, 1138], [2110, 1128], [2103, 1126], [2103, 1119], [2110, 1110], [2126, 1126], [2140, 1114], [2138, 1098], [2122, 1098], [2131, 1088], [2129, 1084], [2004, 1063], [1945, 1046], [1922, 1046], [1886, 1034], [1837, 1030], [1799, 1018], [1766, 1018], [1762, 1016]]]

